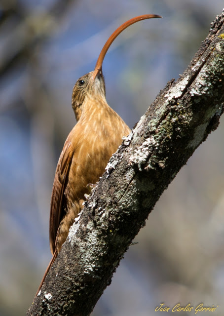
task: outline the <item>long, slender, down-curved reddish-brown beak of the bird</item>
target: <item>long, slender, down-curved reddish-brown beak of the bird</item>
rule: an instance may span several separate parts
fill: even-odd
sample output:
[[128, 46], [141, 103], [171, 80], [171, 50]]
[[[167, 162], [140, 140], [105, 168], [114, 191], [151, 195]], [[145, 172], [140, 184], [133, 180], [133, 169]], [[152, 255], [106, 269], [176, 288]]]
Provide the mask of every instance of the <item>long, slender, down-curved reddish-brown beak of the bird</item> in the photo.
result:
[[93, 71], [93, 75], [92, 75], [92, 79], [94, 80], [97, 76], [97, 74], [102, 71], [102, 64], [104, 61], [104, 57], [109, 49], [109, 47], [111, 46], [112, 42], [115, 40], [115, 38], [122, 32], [124, 31], [126, 28], [128, 28], [130, 25], [138, 22], [138, 21], [142, 21], [142, 20], [146, 20], [146, 19], [153, 19], [153, 18], [161, 18], [160, 15], [156, 15], [156, 14], [144, 14], [144, 15], [139, 15], [136, 16], [126, 22], [124, 22], [121, 26], [119, 26], [110, 36], [110, 38], [106, 41], [104, 47], [102, 48], [100, 55], [97, 59], [96, 62], [96, 66], [95, 69]]

